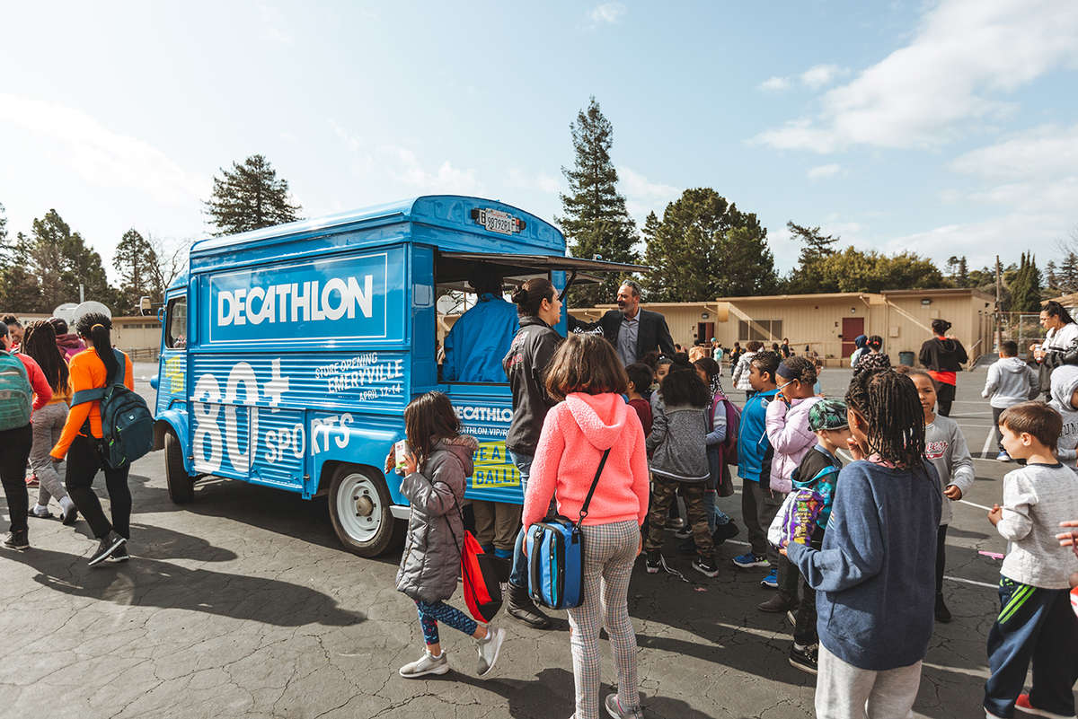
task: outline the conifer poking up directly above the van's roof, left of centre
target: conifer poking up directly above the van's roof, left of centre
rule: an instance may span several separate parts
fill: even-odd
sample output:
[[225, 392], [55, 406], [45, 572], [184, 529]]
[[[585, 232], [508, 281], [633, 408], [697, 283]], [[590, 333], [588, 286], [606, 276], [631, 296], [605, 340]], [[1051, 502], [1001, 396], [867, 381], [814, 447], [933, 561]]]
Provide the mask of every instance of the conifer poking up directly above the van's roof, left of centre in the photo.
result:
[[213, 194], [205, 202], [206, 214], [217, 227], [216, 235], [234, 235], [271, 227], [300, 218], [300, 206], [288, 196], [288, 181], [262, 155], [251, 155], [244, 164], [221, 168], [213, 178]]

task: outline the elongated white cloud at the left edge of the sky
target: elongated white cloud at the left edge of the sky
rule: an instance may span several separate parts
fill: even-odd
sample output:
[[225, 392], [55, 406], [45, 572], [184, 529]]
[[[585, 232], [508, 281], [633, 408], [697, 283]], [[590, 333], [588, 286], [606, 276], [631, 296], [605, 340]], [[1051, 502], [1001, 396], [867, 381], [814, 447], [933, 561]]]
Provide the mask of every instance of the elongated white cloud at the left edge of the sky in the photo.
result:
[[186, 206], [209, 195], [209, 179], [188, 172], [144, 140], [109, 129], [82, 111], [0, 93], [2, 124], [44, 138], [57, 161], [95, 186], [137, 189], [170, 206]]

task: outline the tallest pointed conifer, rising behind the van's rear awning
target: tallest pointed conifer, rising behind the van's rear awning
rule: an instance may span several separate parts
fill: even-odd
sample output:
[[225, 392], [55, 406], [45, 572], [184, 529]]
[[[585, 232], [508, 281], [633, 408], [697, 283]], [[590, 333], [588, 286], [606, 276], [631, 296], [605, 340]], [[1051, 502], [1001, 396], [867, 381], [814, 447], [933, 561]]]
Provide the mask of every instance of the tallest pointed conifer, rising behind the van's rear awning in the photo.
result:
[[[625, 198], [618, 193], [618, 171], [610, 160], [613, 126], [592, 97], [588, 108], [570, 123], [575, 159], [572, 168], [562, 168], [569, 182], [569, 193], [561, 195], [561, 225], [575, 257], [617, 263], [636, 263], [633, 245], [637, 241], [636, 223], [625, 210]], [[599, 285], [575, 286], [569, 291], [570, 307], [591, 307], [612, 302], [623, 278], [608, 277]]]

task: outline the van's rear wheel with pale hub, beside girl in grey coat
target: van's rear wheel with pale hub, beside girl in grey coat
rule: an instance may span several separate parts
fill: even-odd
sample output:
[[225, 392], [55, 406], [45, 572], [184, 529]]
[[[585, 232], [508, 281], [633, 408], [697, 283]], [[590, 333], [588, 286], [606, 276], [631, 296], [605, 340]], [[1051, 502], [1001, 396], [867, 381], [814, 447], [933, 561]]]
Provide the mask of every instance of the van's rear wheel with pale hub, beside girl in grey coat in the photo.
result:
[[336, 470], [330, 484], [330, 521], [353, 554], [377, 556], [401, 537], [402, 523], [389, 512], [389, 490], [381, 477], [356, 467]]

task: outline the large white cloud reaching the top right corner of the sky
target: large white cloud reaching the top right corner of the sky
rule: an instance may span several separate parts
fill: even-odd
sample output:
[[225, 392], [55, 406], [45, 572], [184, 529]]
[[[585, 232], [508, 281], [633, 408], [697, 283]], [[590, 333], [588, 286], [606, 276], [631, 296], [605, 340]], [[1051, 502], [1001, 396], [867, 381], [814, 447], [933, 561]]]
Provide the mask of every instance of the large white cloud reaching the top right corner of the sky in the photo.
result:
[[913, 40], [827, 91], [816, 117], [764, 131], [778, 149], [932, 147], [1013, 110], [1006, 94], [1078, 67], [1078, 3], [943, 0]]

